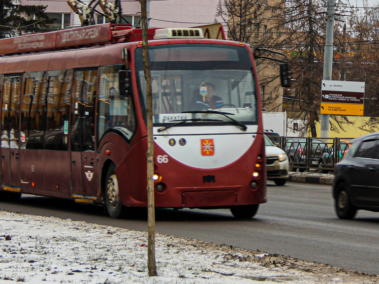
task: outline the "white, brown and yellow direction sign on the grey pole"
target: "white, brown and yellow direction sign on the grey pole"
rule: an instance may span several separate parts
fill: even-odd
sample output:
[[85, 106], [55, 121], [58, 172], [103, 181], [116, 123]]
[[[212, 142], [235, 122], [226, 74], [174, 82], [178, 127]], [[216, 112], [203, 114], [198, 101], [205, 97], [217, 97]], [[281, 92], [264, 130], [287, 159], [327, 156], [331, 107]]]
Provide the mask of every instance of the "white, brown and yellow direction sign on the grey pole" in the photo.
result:
[[363, 115], [365, 82], [323, 80], [321, 114]]

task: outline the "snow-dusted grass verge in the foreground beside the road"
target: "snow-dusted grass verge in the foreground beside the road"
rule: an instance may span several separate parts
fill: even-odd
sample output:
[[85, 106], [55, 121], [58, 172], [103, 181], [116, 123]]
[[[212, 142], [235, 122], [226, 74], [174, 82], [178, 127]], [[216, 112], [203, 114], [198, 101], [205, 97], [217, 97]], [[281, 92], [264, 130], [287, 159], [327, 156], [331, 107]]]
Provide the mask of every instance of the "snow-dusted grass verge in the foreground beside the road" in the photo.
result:
[[70, 219], [0, 211], [0, 283], [377, 283], [367, 275], [260, 251]]

